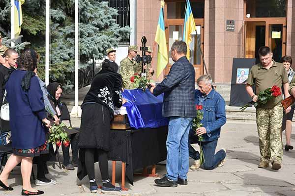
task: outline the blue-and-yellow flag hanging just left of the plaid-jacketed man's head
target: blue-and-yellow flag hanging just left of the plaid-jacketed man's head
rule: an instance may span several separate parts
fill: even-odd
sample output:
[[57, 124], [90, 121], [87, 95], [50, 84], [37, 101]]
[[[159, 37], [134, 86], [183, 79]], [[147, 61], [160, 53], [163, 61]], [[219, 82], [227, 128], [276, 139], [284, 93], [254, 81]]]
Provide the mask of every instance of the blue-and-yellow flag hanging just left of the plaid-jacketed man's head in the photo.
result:
[[156, 31], [155, 42], [158, 44], [158, 63], [157, 63], [157, 77], [165, 69], [168, 63], [168, 52], [167, 52], [167, 43], [165, 35], [165, 25], [164, 25], [164, 16], [163, 16], [163, 7], [164, 0], [161, 1], [161, 10], [159, 16], [158, 27]]

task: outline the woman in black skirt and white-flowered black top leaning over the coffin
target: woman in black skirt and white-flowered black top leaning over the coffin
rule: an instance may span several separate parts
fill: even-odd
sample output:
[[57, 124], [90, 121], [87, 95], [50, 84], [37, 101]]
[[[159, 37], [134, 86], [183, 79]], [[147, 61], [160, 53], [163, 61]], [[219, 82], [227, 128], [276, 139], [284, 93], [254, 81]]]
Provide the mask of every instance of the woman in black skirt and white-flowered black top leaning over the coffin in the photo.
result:
[[82, 180], [87, 174], [91, 193], [97, 192], [94, 163], [99, 162], [102, 177], [102, 193], [119, 192], [122, 189], [110, 183], [108, 151], [110, 150], [110, 124], [114, 106], [126, 102], [121, 96], [122, 77], [118, 65], [102, 63], [102, 70], [95, 75], [81, 105], [82, 118], [79, 134], [79, 166], [77, 176]]

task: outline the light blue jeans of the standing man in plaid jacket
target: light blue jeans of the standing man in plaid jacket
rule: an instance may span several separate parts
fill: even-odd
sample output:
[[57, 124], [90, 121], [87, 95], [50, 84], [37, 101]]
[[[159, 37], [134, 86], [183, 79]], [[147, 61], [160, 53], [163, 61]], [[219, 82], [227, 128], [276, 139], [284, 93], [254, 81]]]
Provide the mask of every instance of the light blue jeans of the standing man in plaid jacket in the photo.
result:
[[186, 179], [188, 172], [188, 133], [193, 118], [171, 117], [169, 119], [167, 147], [167, 174], [170, 180]]

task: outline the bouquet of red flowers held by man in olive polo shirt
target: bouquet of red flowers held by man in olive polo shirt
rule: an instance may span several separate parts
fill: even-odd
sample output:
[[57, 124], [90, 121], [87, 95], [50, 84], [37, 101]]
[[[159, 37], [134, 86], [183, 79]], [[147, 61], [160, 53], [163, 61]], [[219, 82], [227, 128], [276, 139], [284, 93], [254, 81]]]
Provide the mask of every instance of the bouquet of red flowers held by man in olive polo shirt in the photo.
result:
[[254, 107], [257, 107], [258, 105], [264, 105], [269, 99], [276, 98], [280, 95], [282, 95], [280, 87], [273, 86], [271, 88], [267, 88], [266, 90], [259, 93], [257, 102], [250, 101], [246, 105], [242, 106], [240, 110], [244, 111], [249, 105], [254, 105]]

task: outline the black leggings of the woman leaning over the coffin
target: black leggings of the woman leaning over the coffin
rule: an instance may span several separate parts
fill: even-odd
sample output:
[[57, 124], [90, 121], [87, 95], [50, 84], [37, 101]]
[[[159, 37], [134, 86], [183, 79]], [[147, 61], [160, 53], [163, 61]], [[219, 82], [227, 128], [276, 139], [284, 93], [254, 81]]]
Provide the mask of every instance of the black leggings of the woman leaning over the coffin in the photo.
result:
[[85, 164], [88, 177], [90, 180], [95, 179], [94, 171], [94, 154], [98, 153], [99, 169], [102, 180], [109, 180], [109, 163], [108, 163], [108, 152], [102, 149], [86, 148], [85, 149]]

